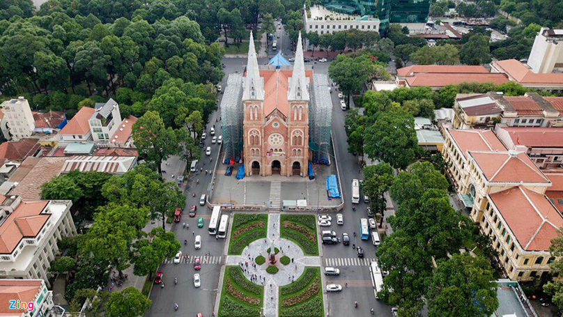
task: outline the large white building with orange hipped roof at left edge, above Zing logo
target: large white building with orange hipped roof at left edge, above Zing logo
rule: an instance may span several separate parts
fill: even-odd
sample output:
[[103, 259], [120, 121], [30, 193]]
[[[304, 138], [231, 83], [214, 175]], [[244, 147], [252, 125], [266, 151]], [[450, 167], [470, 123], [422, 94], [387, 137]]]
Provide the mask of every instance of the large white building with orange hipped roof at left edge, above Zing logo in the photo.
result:
[[43, 279], [49, 286], [57, 240], [76, 234], [70, 206], [0, 196], [0, 279]]

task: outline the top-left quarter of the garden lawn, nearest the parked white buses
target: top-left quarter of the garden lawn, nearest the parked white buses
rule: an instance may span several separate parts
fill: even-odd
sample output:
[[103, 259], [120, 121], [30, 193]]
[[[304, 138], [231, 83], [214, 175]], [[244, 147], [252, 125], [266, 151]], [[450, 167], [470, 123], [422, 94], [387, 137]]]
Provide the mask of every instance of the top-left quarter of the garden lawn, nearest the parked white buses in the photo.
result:
[[268, 215], [238, 213], [233, 217], [229, 254], [242, 254], [250, 242], [266, 238], [268, 235]]

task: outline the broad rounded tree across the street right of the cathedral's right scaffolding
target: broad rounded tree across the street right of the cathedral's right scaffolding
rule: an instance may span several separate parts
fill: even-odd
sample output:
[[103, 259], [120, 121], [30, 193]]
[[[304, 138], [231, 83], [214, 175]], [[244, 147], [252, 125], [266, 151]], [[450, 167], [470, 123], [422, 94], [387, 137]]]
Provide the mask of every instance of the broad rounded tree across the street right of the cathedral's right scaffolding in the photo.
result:
[[366, 130], [364, 150], [371, 158], [405, 169], [418, 150], [415, 118], [405, 111], [381, 112]]

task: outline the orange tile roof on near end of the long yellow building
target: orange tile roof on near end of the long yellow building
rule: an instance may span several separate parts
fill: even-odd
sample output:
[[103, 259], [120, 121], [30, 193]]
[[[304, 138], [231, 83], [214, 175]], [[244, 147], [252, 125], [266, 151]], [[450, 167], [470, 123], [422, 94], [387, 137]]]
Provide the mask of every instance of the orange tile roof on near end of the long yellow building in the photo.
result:
[[488, 196], [523, 249], [548, 251], [551, 240], [560, 235], [563, 217], [546, 196], [524, 186]]

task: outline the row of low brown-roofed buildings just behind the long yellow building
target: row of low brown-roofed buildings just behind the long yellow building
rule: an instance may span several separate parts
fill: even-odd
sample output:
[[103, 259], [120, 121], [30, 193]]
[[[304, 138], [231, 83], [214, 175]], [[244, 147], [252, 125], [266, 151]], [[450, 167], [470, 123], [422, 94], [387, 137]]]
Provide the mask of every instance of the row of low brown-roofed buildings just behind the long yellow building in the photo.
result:
[[537, 93], [504, 96], [502, 93], [456, 95], [455, 129], [493, 127], [563, 127], [563, 97], [543, 98]]

